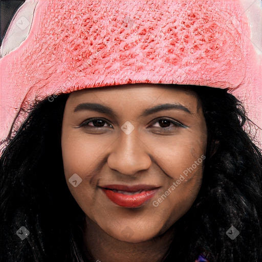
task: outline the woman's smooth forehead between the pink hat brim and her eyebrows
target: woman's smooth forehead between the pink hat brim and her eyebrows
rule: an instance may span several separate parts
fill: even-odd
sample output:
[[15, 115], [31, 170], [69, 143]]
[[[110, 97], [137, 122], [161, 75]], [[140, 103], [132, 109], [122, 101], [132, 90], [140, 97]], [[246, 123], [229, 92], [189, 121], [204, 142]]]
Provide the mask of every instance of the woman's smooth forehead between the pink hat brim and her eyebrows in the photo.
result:
[[[162, 110], [173, 108], [167, 104], [176, 104], [188, 113], [198, 113], [201, 101], [198, 95], [188, 86], [171, 84], [125, 84], [121, 86], [107, 86], [104, 88], [86, 89], [73, 92], [67, 101], [67, 108], [75, 111], [78, 107], [88, 106], [84, 103], [95, 103], [92, 107], [104, 108], [101, 112], [142, 112], [147, 108], [164, 105]], [[90, 105], [89, 105], [90, 106]], [[168, 108], [167, 108], [167, 107]], [[178, 109], [178, 107], [176, 107]]]

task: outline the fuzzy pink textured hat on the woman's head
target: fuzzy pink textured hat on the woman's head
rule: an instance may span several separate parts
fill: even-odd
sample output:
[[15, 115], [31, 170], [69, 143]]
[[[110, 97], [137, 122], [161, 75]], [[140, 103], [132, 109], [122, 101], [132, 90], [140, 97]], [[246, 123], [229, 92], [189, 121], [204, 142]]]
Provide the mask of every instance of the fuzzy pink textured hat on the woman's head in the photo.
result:
[[26, 0], [1, 47], [1, 138], [36, 97], [127, 83], [230, 88], [261, 125], [262, 15], [251, 2]]

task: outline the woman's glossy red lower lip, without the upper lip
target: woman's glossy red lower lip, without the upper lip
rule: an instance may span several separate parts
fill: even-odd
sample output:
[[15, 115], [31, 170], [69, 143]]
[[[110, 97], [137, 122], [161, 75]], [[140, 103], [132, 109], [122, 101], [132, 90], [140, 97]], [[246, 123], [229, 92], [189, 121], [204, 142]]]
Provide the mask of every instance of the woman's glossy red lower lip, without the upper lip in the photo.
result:
[[143, 205], [147, 200], [151, 199], [154, 194], [157, 192], [157, 189], [142, 191], [138, 194], [122, 194], [118, 192], [114, 192], [110, 189], [102, 188], [107, 198], [110, 199], [115, 204], [121, 207], [139, 207]]

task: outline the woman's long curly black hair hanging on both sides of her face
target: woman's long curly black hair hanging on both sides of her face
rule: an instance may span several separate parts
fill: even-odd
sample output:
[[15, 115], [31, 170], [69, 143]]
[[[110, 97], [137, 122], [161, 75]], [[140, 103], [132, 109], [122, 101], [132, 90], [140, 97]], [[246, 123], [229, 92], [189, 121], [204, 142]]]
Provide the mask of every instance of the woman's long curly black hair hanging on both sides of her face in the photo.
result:
[[[200, 98], [208, 146], [200, 192], [174, 223], [165, 262], [194, 262], [200, 253], [210, 262], [261, 262], [261, 151], [245, 131], [253, 124], [227, 90], [187, 89]], [[85, 214], [63, 172], [61, 123], [68, 96], [35, 101], [27, 119], [4, 141], [3, 261], [91, 261], [84, 253]], [[23, 226], [30, 233], [22, 240], [17, 231]], [[231, 239], [236, 230], [239, 235]]]

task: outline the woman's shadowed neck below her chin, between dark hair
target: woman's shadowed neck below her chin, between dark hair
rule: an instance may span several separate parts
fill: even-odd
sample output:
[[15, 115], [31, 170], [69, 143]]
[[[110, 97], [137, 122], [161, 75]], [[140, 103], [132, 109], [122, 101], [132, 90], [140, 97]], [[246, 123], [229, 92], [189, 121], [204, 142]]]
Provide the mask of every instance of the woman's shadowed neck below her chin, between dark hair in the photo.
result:
[[104, 232], [94, 221], [86, 218], [84, 244], [86, 255], [101, 262], [163, 262], [173, 239], [173, 229], [142, 243], [128, 243]]

